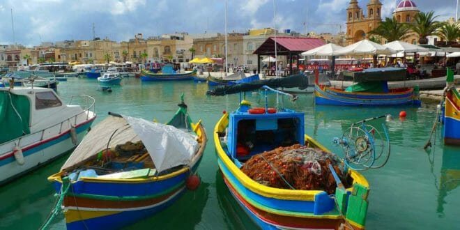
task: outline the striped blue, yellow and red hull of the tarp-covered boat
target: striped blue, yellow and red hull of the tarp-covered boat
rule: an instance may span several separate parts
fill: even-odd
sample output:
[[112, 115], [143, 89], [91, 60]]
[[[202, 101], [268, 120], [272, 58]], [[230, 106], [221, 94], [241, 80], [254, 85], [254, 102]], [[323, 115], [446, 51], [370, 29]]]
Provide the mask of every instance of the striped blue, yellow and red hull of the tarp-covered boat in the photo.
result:
[[199, 167], [206, 148], [206, 132], [199, 123], [201, 146], [189, 167], [146, 178], [91, 178], [61, 180], [62, 171], [48, 178], [61, 194], [67, 229], [120, 229], [171, 206], [185, 192], [187, 178]]

